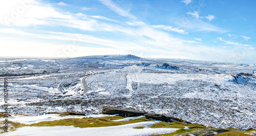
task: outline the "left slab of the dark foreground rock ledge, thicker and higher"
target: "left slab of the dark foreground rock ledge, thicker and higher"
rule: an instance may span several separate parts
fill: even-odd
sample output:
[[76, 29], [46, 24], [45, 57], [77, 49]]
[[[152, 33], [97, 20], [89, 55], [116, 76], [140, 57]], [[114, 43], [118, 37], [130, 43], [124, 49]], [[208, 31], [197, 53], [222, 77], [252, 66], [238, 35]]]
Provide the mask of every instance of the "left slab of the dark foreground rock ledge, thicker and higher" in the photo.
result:
[[103, 107], [102, 113], [110, 115], [119, 114], [120, 116], [124, 117], [136, 117], [146, 114], [146, 112], [117, 107]]

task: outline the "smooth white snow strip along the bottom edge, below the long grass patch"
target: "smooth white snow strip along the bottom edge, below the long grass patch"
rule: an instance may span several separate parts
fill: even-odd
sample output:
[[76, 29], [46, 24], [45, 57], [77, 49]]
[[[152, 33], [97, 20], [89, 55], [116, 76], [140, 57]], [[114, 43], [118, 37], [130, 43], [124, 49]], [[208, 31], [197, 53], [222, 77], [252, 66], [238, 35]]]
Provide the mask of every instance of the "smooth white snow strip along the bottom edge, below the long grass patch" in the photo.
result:
[[[139, 122], [133, 124], [109, 126], [109, 127], [87, 127], [79, 128], [74, 126], [53, 126], [53, 127], [22, 127], [2, 135], [151, 135], [171, 133], [177, 128], [150, 128], [157, 121]], [[133, 127], [144, 126], [143, 129]]]

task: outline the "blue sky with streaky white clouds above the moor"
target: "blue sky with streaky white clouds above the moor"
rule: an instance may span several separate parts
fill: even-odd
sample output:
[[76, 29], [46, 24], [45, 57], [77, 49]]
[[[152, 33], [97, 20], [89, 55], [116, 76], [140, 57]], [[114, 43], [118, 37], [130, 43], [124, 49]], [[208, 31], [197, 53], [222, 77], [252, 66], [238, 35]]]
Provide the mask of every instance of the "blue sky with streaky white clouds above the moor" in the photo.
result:
[[0, 2], [1, 58], [131, 54], [256, 63], [256, 1]]

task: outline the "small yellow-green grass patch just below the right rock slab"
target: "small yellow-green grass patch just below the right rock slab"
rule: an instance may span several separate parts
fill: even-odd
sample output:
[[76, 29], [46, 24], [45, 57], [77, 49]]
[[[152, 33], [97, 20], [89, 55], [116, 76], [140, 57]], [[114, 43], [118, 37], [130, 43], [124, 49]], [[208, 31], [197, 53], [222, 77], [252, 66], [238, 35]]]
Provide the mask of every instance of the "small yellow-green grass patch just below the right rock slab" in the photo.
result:
[[184, 123], [173, 121], [171, 123], [159, 122], [150, 127], [151, 128], [184, 128], [184, 125], [185, 125]]

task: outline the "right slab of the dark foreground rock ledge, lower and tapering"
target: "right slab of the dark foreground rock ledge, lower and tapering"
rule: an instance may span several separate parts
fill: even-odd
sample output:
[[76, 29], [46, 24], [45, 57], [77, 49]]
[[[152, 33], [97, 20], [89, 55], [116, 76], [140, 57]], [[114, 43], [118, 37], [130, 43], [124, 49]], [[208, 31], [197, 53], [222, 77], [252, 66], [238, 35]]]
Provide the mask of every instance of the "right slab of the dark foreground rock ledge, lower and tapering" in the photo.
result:
[[185, 122], [185, 123], [191, 124], [190, 122], [184, 121], [182, 119], [174, 118], [174, 117], [170, 117], [170, 116], [165, 116], [165, 115], [162, 115], [162, 114], [147, 113], [147, 114], [144, 114], [144, 116], [147, 119], [161, 120], [161, 121], [164, 121], [164, 122], [178, 121], [178, 122]]

